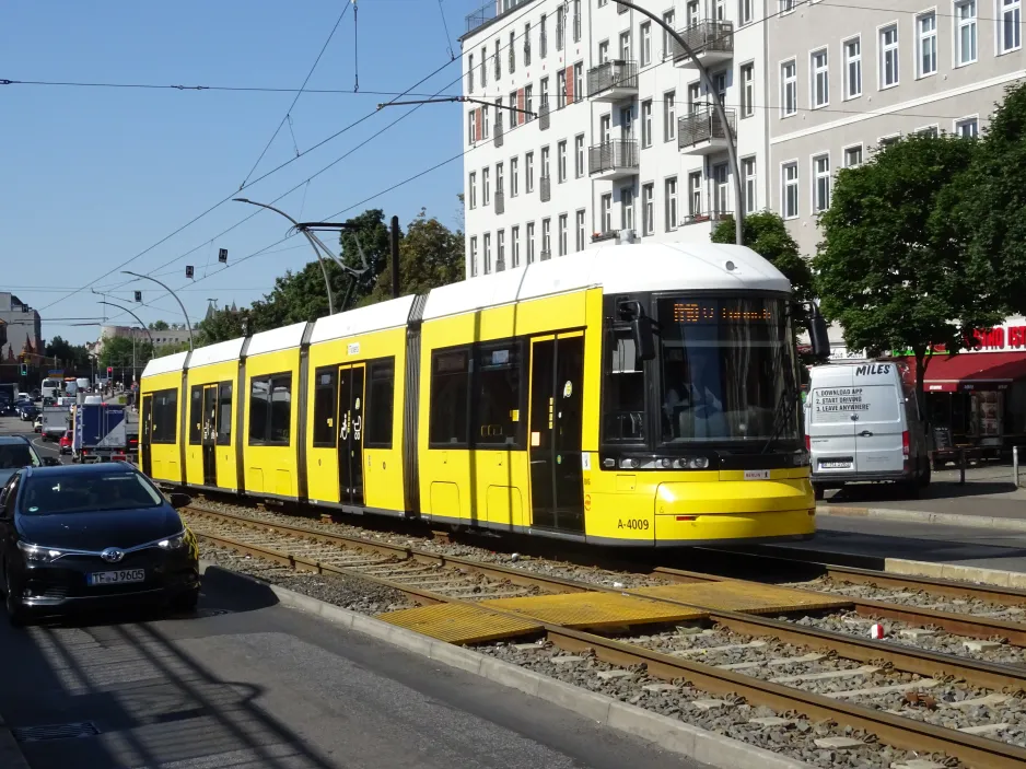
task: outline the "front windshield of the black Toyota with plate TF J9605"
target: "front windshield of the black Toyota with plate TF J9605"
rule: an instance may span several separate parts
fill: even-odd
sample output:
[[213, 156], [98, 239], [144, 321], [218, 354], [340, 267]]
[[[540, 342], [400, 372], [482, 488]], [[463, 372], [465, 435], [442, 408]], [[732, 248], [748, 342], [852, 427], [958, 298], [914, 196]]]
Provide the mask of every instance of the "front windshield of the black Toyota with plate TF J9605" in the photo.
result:
[[138, 473], [46, 473], [25, 481], [20, 508], [26, 515], [155, 508], [160, 493]]

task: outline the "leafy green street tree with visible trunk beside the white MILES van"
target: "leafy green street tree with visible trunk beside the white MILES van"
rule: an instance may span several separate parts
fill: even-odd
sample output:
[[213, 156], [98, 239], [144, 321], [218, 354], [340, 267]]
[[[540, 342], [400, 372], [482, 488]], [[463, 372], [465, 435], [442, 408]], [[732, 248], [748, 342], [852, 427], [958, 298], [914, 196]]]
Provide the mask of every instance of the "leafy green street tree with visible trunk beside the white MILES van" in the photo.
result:
[[[849, 347], [911, 350], [923, 406], [928, 352], [965, 349], [972, 330], [1001, 321], [977, 280], [991, 261], [953, 236], [946, 188], [968, 168], [975, 142], [909, 136], [866, 164], [842, 168], [813, 261], [824, 314]], [[924, 409], [922, 409], [925, 412]]]

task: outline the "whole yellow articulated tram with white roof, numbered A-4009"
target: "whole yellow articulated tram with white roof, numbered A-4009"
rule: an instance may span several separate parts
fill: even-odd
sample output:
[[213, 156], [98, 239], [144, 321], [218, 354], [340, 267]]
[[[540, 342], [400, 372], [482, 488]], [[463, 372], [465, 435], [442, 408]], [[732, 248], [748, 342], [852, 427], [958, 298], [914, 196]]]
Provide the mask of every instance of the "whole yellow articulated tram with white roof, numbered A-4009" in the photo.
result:
[[155, 359], [140, 461], [602, 545], [807, 538], [790, 293], [745, 247], [609, 245]]

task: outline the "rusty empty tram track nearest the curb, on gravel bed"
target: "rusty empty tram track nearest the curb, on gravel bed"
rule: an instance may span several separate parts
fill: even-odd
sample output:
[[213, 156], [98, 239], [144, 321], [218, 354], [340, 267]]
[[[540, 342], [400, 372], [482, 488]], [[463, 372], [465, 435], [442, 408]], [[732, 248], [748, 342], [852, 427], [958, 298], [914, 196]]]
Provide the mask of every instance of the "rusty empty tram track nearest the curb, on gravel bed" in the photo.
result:
[[[195, 516], [191, 525], [201, 538], [222, 548], [245, 551], [294, 569], [355, 574], [398, 591], [422, 605], [473, 604], [497, 596], [510, 597], [511, 594], [636, 594], [634, 589], [540, 575], [515, 567], [327, 534], [307, 526], [269, 523], [198, 506], [185, 512], [187, 516]], [[456, 572], [462, 576], [454, 576]], [[652, 570], [652, 576], [656, 574], [666, 582], [699, 579], [693, 572], [662, 568]], [[425, 583], [429, 578], [432, 581]], [[468, 584], [467, 579], [473, 584]], [[651, 599], [650, 596], [644, 597]], [[687, 606], [683, 602], [666, 603]], [[1002, 730], [994, 729], [996, 723], [993, 719], [1001, 718], [1006, 703], [1013, 708], [1022, 704], [1014, 692], [1026, 688], [1026, 668], [881, 644], [864, 637], [801, 627], [792, 621], [741, 611], [709, 608], [703, 611], [713, 628], [696, 631], [693, 626], [687, 626], [660, 631], [655, 636], [639, 636], [638, 628], [630, 628], [626, 630], [631, 630], [633, 636], [625, 640], [590, 629], [541, 621], [537, 624], [535, 634], [544, 638], [551, 648], [570, 652], [569, 655], [551, 656], [574, 657], [575, 653], [585, 652], [597, 663], [615, 666], [618, 672], [610, 679], [623, 677], [623, 671], [643, 667], [645, 676], [671, 687], [661, 690], [664, 692], [672, 692], [674, 687], [679, 690], [680, 681], [687, 681], [706, 694], [703, 703], [708, 708], [725, 707], [722, 703], [727, 701], [713, 702], [710, 695], [741, 696], [745, 702], [770, 708], [776, 713], [797, 712], [805, 718], [844, 724], [866, 735], [875, 735], [896, 748], [943, 753], [967, 766], [1004, 767], [1026, 761], [1026, 747], [958, 731], [969, 729], [984, 735], [1000, 734]], [[673, 638], [668, 645], [661, 636], [666, 632]], [[481, 649], [486, 653], [495, 653], [495, 650], [513, 648], [499, 643], [486, 644]], [[823, 650], [827, 653], [823, 654]], [[736, 657], [738, 653], [744, 655], [741, 661]], [[734, 657], [727, 657], [733, 661], [720, 662], [716, 657], [722, 654], [733, 654]], [[537, 662], [544, 654], [532, 656]], [[699, 662], [695, 656], [710, 662]], [[535, 663], [528, 661], [525, 664]], [[551, 664], [567, 671], [581, 661], [569, 659]], [[851, 681], [856, 683], [844, 688]], [[900, 707], [890, 707], [895, 696], [906, 698], [911, 710], [901, 712]], [[946, 702], [945, 697], [955, 697], [954, 702], [965, 704]], [[884, 701], [874, 701], [874, 698], [884, 698]], [[702, 698], [691, 702], [699, 699]], [[918, 710], [931, 713], [946, 711], [959, 718], [944, 715], [942, 721], [956, 725], [955, 729], [946, 729], [930, 723], [928, 718], [919, 718], [923, 714], [916, 712]], [[969, 714], [963, 716], [967, 711]], [[976, 711], [982, 711], [990, 723], [975, 723], [980, 720]]]

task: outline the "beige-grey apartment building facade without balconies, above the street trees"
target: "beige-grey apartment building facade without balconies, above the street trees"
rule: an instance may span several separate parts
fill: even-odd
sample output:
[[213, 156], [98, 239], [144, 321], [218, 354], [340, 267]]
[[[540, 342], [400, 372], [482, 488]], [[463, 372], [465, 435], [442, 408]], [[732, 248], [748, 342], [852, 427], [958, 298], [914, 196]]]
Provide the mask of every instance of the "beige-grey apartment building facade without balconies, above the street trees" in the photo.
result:
[[767, 26], [771, 207], [803, 254], [838, 168], [917, 131], [973, 137], [1026, 75], [1023, 0], [780, 0]]

